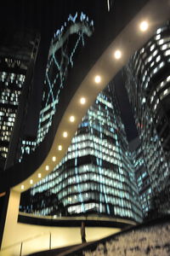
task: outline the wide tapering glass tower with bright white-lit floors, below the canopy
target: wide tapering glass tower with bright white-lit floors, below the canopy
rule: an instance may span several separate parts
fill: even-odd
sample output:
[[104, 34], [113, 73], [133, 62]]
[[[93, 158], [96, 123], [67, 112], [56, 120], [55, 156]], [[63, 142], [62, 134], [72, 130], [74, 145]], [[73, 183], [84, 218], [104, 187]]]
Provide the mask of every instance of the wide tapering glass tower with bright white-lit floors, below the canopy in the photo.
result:
[[31, 189], [27, 212], [141, 220], [127, 138], [111, 95], [108, 86], [88, 109], [64, 159]]

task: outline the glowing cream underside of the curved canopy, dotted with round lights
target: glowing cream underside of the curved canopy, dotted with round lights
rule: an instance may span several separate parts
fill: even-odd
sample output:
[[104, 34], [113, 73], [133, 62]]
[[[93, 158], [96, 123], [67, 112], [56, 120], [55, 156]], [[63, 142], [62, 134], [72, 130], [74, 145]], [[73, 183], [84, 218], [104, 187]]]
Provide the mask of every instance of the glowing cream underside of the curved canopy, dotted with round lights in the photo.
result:
[[[68, 89], [68, 101], [70, 102], [67, 104], [66, 108], [61, 108], [62, 105], [59, 105], [59, 109], [61, 109], [60, 116], [62, 116], [62, 119], [54, 119], [54, 122], [57, 124], [55, 125], [58, 129], [54, 135], [52, 147], [50, 148], [53, 137], [50, 138], [51, 141], [47, 144], [41, 145], [41, 147], [45, 146], [50, 150], [47, 156], [45, 154], [46, 150], [44, 150], [44, 153], [42, 151], [42, 164], [40, 164], [40, 161], [35, 158], [36, 163], [34, 163], [34, 168], [37, 166], [36, 172], [31, 174], [31, 166], [30, 173], [27, 172], [25, 174], [23, 170], [23, 175], [21, 174], [20, 179], [15, 181], [15, 183], [18, 183], [16, 186], [14, 186], [14, 179], [12, 181], [12, 177], [9, 177], [9, 172], [8, 176], [4, 175], [4, 181], [5, 179], [10, 178], [11, 184], [14, 186], [14, 190], [24, 191], [29, 189], [32, 184], [37, 183], [42, 177], [48, 175], [49, 172], [53, 171], [54, 166], [59, 164], [59, 161], [65, 155], [65, 152], [71, 143], [71, 138], [77, 131], [78, 124], [81, 122], [82, 117], [85, 115], [88, 108], [94, 102], [96, 96], [105, 88], [111, 79], [113, 79], [123, 65], [126, 64], [134, 51], [142, 47], [142, 45], [156, 31], [156, 28], [169, 19], [169, 13], [170, 3], [168, 0], [151, 0], [149, 3], [145, 4], [144, 8], [139, 11], [133, 20], [131, 20], [127, 26], [122, 29], [122, 32], [120, 32], [113, 41], [110, 42], [111, 44], [105, 49], [103, 54], [100, 55], [98, 61], [96, 61], [90, 68], [86, 77], [82, 79], [82, 83], [77, 84], [75, 88], [71, 87], [71, 89]], [[144, 20], [148, 22], [148, 28], [146, 27], [146, 29], [144, 29], [143, 26], [143, 30], [141, 30], [140, 25]], [[108, 28], [108, 33], [109, 32]], [[73, 73], [73, 75], [77, 75], [77, 73]], [[80, 74], [80, 77], [83, 76]], [[84, 99], [83, 104], [80, 102], [81, 98]], [[60, 102], [65, 102], [64, 95]], [[66, 134], [64, 133], [65, 131], [67, 132], [67, 137], [64, 136]], [[52, 130], [51, 132], [54, 131]], [[29, 159], [31, 160], [30, 156], [28, 156], [27, 162], [29, 162]], [[15, 166], [15, 168], [17, 168], [17, 166]], [[24, 169], [24, 166], [22, 166], [22, 168]], [[25, 181], [22, 181], [24, 179]], [[1, 190], [3, 191], [5, 189], [5, 185], [4, 187], [2, 186]]]

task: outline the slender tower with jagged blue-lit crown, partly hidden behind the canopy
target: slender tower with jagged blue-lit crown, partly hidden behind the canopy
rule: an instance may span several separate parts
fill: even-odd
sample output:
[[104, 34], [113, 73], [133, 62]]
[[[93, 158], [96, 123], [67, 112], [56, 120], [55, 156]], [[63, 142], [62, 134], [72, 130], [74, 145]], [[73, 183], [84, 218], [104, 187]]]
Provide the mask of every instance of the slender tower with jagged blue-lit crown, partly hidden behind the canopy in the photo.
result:
[[57, 112], [61, 90], [66, 86], [67, 73], [93, 32], [94, 21], [83, 13], [69, 15], [65, 23], [54, 32], [48, 52], [37, 138], [23, 141], [22, 155], [30, 154], [48, 133], [54, 113]]

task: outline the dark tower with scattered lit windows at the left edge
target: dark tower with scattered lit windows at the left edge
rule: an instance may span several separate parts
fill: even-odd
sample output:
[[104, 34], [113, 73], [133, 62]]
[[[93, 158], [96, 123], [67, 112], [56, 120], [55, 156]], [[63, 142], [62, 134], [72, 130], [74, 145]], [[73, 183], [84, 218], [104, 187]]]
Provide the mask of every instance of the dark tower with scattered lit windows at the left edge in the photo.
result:
[[1, 31], [0, 41], [0, 166], [17, 160], [26, 122], [39, 36]]

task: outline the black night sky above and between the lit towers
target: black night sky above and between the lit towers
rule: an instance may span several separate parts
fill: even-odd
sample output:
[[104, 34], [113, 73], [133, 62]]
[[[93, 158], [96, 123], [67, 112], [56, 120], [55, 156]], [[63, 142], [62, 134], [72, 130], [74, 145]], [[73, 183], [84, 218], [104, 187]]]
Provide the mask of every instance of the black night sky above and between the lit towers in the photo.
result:
[[[111, 7], [114, 8], [111, 1]], [[25, 30], [27, 28], [36, 30], [41, 33], [41, 44], [39, 55], [37, 56], [38, 67], [35, 73], [36, 90], [32, 96], [30, 115], [28, 118], [28, 133], [34, 134], [37, 127], [37, 116], [39, 115], [39, 108], [42, 94], [42, 83], [44, 79], [44, 71], [46, 68], [46, 60], [48, 55], [48, 45], [52, 35], [67, 19], [68, 15], [75, 14], [77, 11], [83, 11], [89, 14], [91, 19], [98, 23], [101, 19], [101, 14], [107, 13], [106, 0], [17, 0], [17, 1], [2, 1], [1, 15], [0, 15], [0, 32], [3, 28]], [[62, 14], [62, 15], [60, 15]], [[122, 76], [116, 76], [116, 94], [120, 104], [122, 119], [126, 126], [127, 139], [131, 141], [137, 136], [137, 131], [134, 127], [133, 114], [127, 99], [126, 90], [123, 86]], [[39, 107], [38, 107], [39, 106]], [[30, 122], [31, 120], [31, 122]]]

